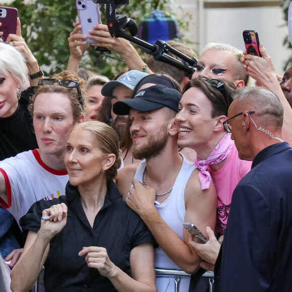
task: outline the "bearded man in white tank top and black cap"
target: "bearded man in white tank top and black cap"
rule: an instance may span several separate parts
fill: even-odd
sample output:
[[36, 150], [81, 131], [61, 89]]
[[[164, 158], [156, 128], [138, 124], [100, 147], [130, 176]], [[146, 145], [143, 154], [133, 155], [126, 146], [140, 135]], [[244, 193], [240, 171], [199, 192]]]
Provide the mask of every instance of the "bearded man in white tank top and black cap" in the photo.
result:
[[[115, 103], [116, 114], [129, 114], [134, 158], [144, 159], [124, 167], [117, 185], [160, 246], [155, 251], [156, 268], [191, 274], [199, 269], [201, 259], [190, 249], [183, 223], [193, 223], [207, 236], [206, 226], [215, 225], [216, 193], [212, 183], [209, 189], [201, 189], [199, 171], [178, 153], [173, 118], [180, 99], [178, 91], [154, 85], [141, 89], [131, 100]], [[175, 291], [173, 278], [157, 276], [158, 291]], [[189, 278], [182, 278], [179, 290], [185, 292], [188, 287]]]

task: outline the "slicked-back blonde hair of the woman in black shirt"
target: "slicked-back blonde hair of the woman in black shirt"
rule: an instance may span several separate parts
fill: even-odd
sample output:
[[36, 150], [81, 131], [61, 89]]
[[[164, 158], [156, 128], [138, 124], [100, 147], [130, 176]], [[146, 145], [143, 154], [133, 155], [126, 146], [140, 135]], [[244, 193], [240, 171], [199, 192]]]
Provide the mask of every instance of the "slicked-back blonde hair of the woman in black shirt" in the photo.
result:
[[106, 170], [106, 178], [112, 179], [117, 176], [118, 168], [121, 166], [121, 151], [119, 149], [119, 137], [117, 132], [107, 124], [98, 121], [90, 121], [77, 124], [74, 128], [83, 128], [90, 131], [96, 138], [98, 147], [104, 156], [115, 155], [115, 162], [111, 168]]

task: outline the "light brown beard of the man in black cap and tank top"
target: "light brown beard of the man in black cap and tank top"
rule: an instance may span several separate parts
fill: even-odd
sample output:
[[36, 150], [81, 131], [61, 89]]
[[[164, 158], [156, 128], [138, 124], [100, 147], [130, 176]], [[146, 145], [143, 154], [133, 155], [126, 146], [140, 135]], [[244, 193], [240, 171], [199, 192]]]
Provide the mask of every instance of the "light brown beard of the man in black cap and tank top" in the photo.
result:
[[132, 156], [134, 159], [151, 159], [158, 156], [164, 149], [168, 132], [166, 127], [163, 127], [157, 134], [149, 136], [149, 142], [138, 147], [137, 143], [133, 143]]

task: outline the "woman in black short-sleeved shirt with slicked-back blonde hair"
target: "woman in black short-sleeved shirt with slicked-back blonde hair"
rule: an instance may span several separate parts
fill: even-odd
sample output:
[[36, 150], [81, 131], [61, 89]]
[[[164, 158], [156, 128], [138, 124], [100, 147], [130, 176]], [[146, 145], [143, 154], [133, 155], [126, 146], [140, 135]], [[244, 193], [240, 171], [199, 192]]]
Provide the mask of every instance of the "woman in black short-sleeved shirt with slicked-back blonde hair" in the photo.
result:
[[44, 265], [48, 292], [157, 291], [155, 240], [113, 182], [121, 164], [117, 133], [85, 122], [66, 145], [66, 194], [34, 203], [21, 218], [28, 236], [12, 290], [28, 291]]

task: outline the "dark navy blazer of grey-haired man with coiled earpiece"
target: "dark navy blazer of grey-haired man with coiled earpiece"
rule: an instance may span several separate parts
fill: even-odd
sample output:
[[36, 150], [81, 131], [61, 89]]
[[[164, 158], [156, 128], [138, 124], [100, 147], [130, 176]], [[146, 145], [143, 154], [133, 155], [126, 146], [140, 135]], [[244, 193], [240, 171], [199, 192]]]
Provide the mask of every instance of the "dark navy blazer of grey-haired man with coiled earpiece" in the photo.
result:
[[215, 291], [291, 289], [292, 149], [282, 142], [258, 153], [234, 190]]

